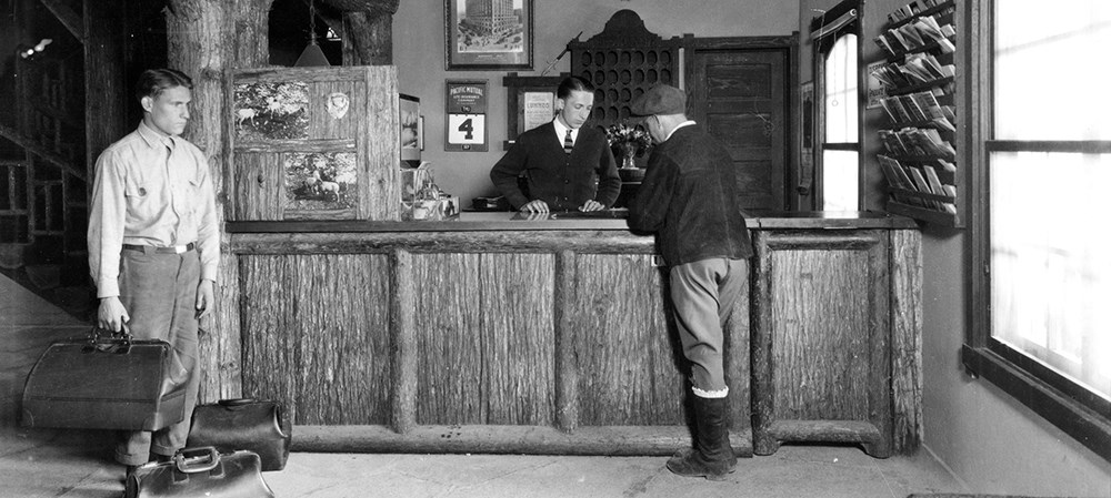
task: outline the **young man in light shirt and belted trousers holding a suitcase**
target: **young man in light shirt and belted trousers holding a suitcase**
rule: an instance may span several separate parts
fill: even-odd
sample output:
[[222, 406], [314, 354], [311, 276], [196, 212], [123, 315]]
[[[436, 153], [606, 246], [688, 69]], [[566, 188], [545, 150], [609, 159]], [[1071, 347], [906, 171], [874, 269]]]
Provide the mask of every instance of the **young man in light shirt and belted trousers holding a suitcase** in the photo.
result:
[[142, 122], [97, 160], [88, 235], [97, 322], [168, 342], [187, 373], [182, 421], [153, 435], [120, 434], [116, 459], [129, 471], [184, 446], [200, 385], [198, 322], [213, 305], [220, 234], [212, 182], [204, 153], [180, 136], [192, 87], [180, 71], [143, 72], [136, 89]]

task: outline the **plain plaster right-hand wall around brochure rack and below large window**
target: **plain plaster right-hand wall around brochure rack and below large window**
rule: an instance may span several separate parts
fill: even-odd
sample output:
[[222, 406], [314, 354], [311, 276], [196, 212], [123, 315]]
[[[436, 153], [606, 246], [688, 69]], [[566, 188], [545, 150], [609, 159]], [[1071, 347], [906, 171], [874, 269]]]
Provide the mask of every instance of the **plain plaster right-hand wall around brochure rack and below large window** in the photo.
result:
[[[958, 0], [960, 2], [961, 0]], [[812, 79], [810, 21], [837, 0], [801, 0], [801, 81]], [[880, 58], [872, 39], [905, 0], [871, 0], [861, 12], [861, 60]], [[960, 27], [958, 27], [960, 31]], [[960, 42], [958, 41], [958, 50]], [[958, 69], [960, 71], [960, 69]], [[871, 114], [869, 114], [871, 113]], [[865, 112], [865, 128], [879, 118]], [[862, 136], [865, 171], [875, 144]], [[962, 151], [958, 151], [962, 153]], [[959, 161], [968, 164], [968, 161]], [[882, 196], [880, 197], [882, 199]], [[867, 205], [875, 204], [870, 200]], [[874, 207], [874, 206], [873, 206]], [[960, 349], [967, 328], [964, 251], [968, 231], [923, 230], [923, 447], [970, 491], [1024, 496], [1111, 496], [1111, 464], [1047, 423], [991, 383], [964, 374]]]

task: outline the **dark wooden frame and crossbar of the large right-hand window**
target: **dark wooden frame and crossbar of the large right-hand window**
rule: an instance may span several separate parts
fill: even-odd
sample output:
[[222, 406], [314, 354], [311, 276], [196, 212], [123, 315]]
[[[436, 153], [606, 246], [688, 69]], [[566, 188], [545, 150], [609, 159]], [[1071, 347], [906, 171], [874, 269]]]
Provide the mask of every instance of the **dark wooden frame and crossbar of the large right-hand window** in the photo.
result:
[[[965, 372], [1014, 397], [1103, 459], [1111, 461], [1111, 403], [1031, 356], [992, 337], [991, 318], [991, 176], [992, 152], [1111, 153], [1111, 141], [1014, 141], [993, 136], [993, 72], [995, 0], [960, 2], [969, 50], [967, 128], [970, 203], [967, 253], [968, 329], [961, 348]], [[962, 10], [958, 9], [958, 16]]]

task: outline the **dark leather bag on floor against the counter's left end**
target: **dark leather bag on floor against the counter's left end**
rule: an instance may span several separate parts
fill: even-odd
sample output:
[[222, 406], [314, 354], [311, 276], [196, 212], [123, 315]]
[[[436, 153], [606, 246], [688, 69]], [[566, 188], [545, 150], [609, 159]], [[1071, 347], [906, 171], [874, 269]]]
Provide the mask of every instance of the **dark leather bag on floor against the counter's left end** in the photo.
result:
[[277, 402], [223, 399], [193, 408], [186, 446], [254, 451], [262, 458], [262, 471], [281, 470], [289, 458], [292, 433]]

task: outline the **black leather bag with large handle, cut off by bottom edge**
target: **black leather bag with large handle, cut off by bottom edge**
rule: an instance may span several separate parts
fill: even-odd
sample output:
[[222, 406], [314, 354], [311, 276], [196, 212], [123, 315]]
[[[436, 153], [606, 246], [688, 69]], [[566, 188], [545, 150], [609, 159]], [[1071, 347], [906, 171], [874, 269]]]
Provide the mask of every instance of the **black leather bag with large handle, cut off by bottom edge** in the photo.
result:
[[186, 448], [170, 461], [137, 468], [128, 476], [123, 496], [272, 498], [260, 465], [259, 456], [251, 451], [221, 455], [211, 446]]

